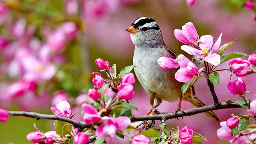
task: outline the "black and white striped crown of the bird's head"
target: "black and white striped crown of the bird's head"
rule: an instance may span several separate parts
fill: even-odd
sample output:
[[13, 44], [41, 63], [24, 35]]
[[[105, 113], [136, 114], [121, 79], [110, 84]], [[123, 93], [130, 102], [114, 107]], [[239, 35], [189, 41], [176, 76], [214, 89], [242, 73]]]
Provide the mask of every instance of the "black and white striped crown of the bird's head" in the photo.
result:
[[137, 18], [134, 20], [134, 22], [132, 22], [132, 26], [134, 26], [136, 29], [146, 26], [150, 29], [160, 30], [159, 26], [156, 24], [156, 21], [148, 17]]

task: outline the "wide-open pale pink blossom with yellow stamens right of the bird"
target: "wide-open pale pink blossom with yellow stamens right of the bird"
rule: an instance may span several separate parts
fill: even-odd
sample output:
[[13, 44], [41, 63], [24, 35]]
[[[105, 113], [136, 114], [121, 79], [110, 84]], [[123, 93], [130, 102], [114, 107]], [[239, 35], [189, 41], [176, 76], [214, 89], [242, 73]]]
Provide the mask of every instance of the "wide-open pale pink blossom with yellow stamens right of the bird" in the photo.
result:
[[[214, 52], [216, 52], [220, 48], [221, 36], [222, 34], [220, 34], [218, 40], [215, 42], [213, 46], [212, 36], [201, 36], [201, 38], [199, 39], [199, 47], [201, 50], [198, 50], [188, 45], [181, 46], [181, 49], [187, 52], [188, 54], [197, 56], [198, 58], [204, 58], [206, 62], [209, 62], [214, 66], [217, 66], [218, 64], [220, 64], [220, 55], [215, 54]], [[210, 53], [208, 53], [209, 50], [211, 50]]]

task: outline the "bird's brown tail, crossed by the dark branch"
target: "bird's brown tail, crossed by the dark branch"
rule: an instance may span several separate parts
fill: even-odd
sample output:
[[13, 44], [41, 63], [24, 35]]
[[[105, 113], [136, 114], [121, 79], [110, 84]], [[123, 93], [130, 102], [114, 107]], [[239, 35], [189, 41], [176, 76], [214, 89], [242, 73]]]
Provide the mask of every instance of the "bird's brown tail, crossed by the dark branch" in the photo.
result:
[[[183, 95], [183, 100], [190, 102], [196, 107], [206, 106], [199, 98], [196, 97], [194, 86], [191, 86], [191, 88]], [[204, 114], [212, 120], [220, 121], [220, 118], [212, 111], [204, 112]]]

